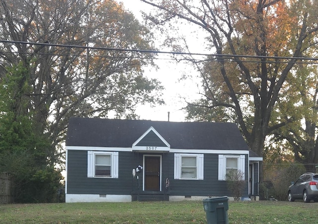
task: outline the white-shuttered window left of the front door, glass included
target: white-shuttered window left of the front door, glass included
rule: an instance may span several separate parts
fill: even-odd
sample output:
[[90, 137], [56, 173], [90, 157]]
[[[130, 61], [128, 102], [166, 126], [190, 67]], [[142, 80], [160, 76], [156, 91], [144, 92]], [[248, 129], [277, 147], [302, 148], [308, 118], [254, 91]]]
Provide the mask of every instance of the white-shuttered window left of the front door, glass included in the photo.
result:
[[118, 178], [118, 152], [87, 151], [87, 177]]

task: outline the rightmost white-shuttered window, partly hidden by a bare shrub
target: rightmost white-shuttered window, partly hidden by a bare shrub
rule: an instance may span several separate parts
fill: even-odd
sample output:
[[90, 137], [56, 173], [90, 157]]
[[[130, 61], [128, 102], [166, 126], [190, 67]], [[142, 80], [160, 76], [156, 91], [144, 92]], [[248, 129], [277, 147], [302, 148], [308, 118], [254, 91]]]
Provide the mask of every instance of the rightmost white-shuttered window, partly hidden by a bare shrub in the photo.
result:
[[226, 180], [226, 175], [231, 171], [241, 171], [245, 178], [245, 155], [222, 155], [219, 154], [218, 180]]

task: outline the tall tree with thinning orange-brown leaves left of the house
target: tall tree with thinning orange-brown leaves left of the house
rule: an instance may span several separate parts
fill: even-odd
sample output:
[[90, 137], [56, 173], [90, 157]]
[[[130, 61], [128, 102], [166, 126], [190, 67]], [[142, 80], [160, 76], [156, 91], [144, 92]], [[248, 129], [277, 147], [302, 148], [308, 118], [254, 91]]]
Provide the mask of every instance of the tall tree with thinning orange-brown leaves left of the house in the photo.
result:
[[112, 50], [153, 49], [152, 34], [113, 0], [1, 0], [0, 36], [2, 77], [20, 61], [29, 71], [27, 110], [53, 146], [71, 116], [134, 118], [137, 104], [162, 103], [158, 80], [143, 76], [152, 55]]

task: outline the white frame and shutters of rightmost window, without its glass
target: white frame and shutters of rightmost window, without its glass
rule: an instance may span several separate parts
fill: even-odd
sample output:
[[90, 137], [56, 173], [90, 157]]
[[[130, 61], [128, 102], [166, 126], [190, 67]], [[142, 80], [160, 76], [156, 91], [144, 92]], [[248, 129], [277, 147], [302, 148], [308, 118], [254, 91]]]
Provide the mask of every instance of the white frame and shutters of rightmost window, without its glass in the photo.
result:
[[219, 154], [218, 180], [226, 180], [227, 158], [237, 158], [238, 159], [238, 170], [240, 170], [243, 173], [242, 178], [245, 179], [245, 155]]

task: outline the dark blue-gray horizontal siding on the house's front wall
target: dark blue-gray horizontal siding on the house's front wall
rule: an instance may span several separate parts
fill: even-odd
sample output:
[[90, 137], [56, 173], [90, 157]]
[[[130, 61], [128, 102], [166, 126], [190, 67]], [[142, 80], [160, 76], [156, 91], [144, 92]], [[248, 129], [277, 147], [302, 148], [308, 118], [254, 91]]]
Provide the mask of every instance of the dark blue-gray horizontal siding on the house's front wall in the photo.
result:
[[[149, 153], [146, 153], [149, 154]], [[152, 153], [152, 155], [160, 153]], [[232, 196], [227, 190], [226, 181], [218, 180], [218, 154], [204, 154], [204, 180], [174, 180], [174, 153], [161, 153], [162, 156], [162, 191], [170, 196]], [[142, 191], [143, 173], [133, 178], [132, 169], [143, 166], [142, 152], [119, 152], [119, 178], [87, 178], [87, 151], [68, 150], [68, 193], [69, 194], [121, 194], [130, 195], [131, 192]], [[246, 155], [247, 158], [247, 155]], [[244, 195], [248, 195], [247, 171], [245, 162], [246, 188]], [[170, 185], [166, 189], [165, 179]]]

